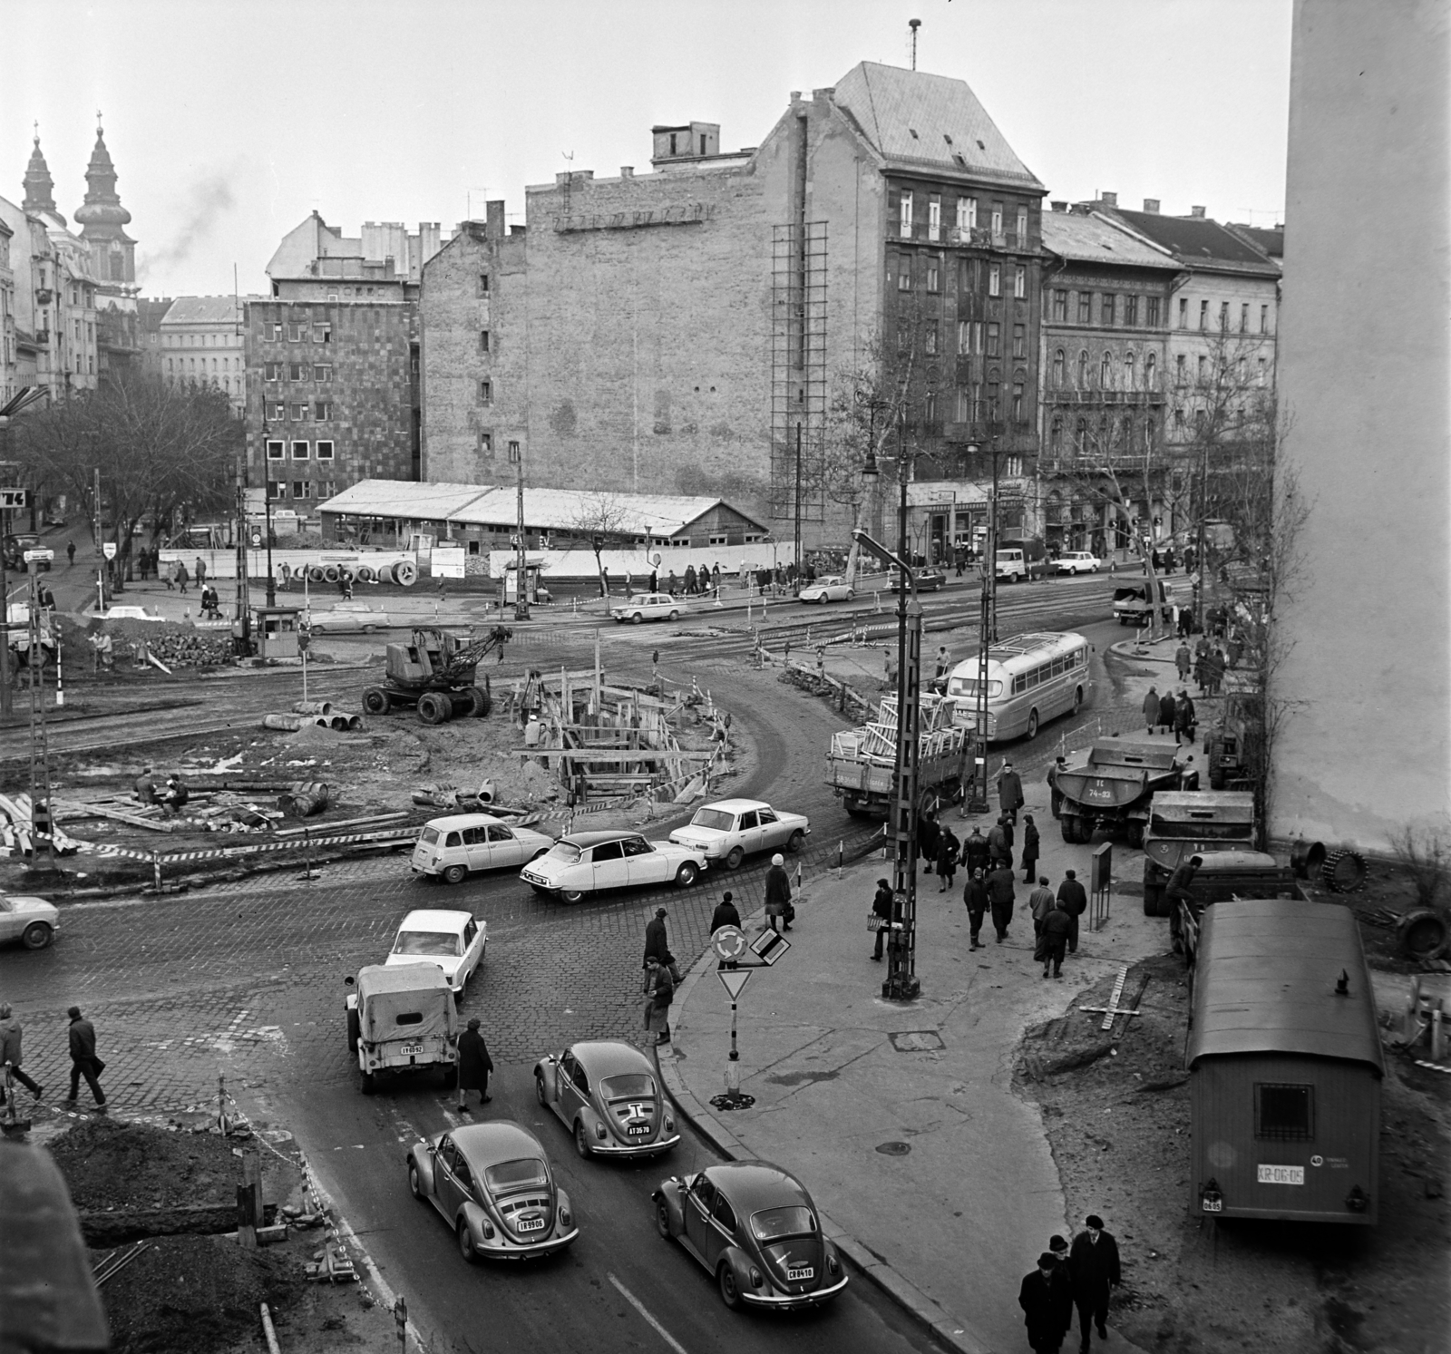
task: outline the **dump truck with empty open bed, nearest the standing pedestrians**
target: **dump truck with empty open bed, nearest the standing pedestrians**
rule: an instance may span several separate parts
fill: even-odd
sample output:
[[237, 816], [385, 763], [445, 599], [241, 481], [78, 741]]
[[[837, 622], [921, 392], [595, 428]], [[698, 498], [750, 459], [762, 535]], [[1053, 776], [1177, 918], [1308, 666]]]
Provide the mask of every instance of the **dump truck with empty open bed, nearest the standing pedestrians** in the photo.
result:
[[1155, 792], [1194, 789], [1199, 771], [1193, 763], [1188, 747], [1165, 737], [1100, 739], [1053, 771], [1064, 840], [1087, 842], [1104, 827], [1122, 832], [1129, 846], [1142, 846]]

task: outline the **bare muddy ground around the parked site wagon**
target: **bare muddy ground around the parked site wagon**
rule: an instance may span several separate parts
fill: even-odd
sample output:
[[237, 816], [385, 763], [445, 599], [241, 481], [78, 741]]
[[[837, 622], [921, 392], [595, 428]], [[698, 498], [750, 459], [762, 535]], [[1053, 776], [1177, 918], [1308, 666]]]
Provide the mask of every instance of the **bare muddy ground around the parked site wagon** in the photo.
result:
[[[1376, 930], [1368, 932], [1367, 948]], [[1103, 1006], [1106, 980], [1074, 1006]], [[1214, 1222], [1190, 1213], [1188, 984], [1175, 955], [1138, 965], [1143, 1014], [1100, 1033], [1077, 1010], [1029, 1030], [1014, 1081], [1036, 1100], [1068, 1213], [1104, 1216], [1125, 1281], [1114, 1324], [1172, 1354], [1441, 1354], [1451, 1332], [1451, 1087], [1387, 1048], [1380, 1225]], [[1127, 1004], [1133, 1004], [1129, 1001]]]

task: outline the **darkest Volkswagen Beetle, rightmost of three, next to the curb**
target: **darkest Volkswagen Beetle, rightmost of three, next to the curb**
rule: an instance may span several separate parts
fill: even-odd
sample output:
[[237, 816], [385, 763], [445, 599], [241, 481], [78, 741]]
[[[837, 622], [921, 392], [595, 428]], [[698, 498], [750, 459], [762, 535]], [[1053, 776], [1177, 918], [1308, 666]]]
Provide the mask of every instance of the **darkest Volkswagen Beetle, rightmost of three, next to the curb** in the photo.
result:
[[672, 1175], [654, 1220], [715, 1276], [728, 1308], [814, 1308], [846, 1287], [836, 1247], [804, 1184], [769, 1161], [727, 1161]]

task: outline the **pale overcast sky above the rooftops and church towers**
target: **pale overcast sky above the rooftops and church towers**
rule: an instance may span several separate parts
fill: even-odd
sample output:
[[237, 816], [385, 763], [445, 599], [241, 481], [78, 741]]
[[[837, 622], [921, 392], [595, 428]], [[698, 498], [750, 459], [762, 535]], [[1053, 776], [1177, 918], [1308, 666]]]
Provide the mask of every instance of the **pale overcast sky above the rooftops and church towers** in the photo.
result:
[[0, 196], [32, 123], [73, 218], [96, 110], [144, 295], [267, 289], [318, 210], [459, 221], [567, 170], [649, 170], [650, 126], [759, 144], [858, 61], [974, 89], [1049, 197], [1283, 219], [1290, 0], [0, 0]]

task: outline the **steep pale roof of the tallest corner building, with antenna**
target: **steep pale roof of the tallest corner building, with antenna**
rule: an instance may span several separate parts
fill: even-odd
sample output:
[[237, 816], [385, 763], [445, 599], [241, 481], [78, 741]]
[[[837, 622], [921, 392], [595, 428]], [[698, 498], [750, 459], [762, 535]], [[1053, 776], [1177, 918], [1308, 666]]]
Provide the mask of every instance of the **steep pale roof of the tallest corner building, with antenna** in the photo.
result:
[[888, 161], [1043, 190], [963, 80], [862, 61], [833, 102]]

